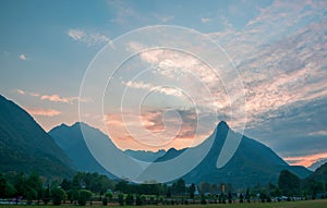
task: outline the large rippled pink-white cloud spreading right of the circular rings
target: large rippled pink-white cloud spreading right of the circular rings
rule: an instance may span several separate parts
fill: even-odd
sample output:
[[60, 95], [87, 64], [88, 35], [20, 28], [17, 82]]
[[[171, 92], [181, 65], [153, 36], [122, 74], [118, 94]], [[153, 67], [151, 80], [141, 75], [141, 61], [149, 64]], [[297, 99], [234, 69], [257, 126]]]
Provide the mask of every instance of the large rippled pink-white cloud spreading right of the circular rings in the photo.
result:
[[275, 1], [243, 30], [221, 17], [226, 29], [208, 35], [240, 71], [251, 125], [258, 125], [267, 113], [280, 114], [284, 106], [327, 96], [327, 42], [322, 39], [326, 20], [318, 4]]

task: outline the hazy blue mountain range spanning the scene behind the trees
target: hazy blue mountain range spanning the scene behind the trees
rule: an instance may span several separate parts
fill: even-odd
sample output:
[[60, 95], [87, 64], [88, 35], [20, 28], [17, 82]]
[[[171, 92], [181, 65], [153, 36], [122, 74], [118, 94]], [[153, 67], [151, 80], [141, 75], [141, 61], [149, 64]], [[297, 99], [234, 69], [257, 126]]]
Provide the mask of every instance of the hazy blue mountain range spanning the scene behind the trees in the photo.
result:
[[[1, 172], [36, 171], [40, 175], [69, 178], [75, 171], [86, 171], [99, 172], [116, 179], [89, 152], [81, 126], [83, 125], [83, 133], [92, 135], [92, 138], [105, 138], [111, 142], [99, 130], [77, 122], [71, 126], [61, 124], [47, 134], [25, 110], [2, 96], [0, 96], [0, 114]], [[232, 137], [240, 136], [226, 122], [220, 122], [213, 134], [196, 147], [171, 148], [156, 152], [129, 149], [124, 154], [137, 160], [157, 163], [171, 160], [185, 150], [201, 152], [206, 145], [211, 144], [204, 159], [182, 176], [186, 183], [231, 183], [234, 187], [247, 187], [276, 183], [279, 172], [284, 169], [302, 179], [312, 173], [304, 167], [289, 166], [270, 148], [246, 136], [242, 136], [231, 160], [218, 169], [216, 162], [227, 134]], [[154, 168], [155, 166], [149, 166], [148, 171]], [[173, 171], [174, 167], [170, 169]]]

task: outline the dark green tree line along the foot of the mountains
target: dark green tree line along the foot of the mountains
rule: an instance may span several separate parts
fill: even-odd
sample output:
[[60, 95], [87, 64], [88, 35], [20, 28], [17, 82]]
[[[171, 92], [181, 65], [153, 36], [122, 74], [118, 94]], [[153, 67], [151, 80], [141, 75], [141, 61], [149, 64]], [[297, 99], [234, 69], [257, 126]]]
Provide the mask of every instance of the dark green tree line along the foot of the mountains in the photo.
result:
[[0, 174], [0, 198], [24, 199], [27, 204], [43, 203], [60, 205], [116, 203], [120, 205], [173, 205], [189, 203], [251, 203], [253, 200], [271, 201], [272, 199], [312, 199], [322, 194], [326, 197], [326, 184], [315, 180], [301, 180], [295, 174], [283, 170], [278, 183], [255, 185], [246, 189], [234, 189], [231, 184], [186, 184], [179, 179], [171, 184], [147, 181], [142, 184], [128, 180], [110, 180], [98, 173], [77, 172], [72, 179], [47, 180], [33, 172]]

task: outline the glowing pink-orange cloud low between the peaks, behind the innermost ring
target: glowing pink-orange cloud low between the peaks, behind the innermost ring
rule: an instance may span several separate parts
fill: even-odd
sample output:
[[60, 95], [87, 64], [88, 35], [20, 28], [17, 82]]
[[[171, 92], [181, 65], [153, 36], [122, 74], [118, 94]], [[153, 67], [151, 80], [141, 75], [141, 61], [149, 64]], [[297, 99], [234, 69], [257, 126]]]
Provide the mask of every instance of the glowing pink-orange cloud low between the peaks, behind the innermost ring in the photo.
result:
[[[110, 138], [122, 149], [158, 150], [184, 148], [199, 144], [211, 132], [199, 131], [196, 113], [186, 110], [174, 110], [167, 114], [165, 110], [142, 109], [134, 112], [106, 114], [105, 121]], [[199, 127], [201, 129], [201, 127]], [[132, 130], [132, 131], [131, 131]]]

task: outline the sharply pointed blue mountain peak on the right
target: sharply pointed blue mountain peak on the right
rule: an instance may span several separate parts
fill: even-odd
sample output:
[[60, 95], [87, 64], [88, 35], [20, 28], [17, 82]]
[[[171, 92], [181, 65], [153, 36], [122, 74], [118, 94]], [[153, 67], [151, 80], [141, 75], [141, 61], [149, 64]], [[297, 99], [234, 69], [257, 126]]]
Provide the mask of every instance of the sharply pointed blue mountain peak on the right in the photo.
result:
[[[256, 184], [276, 183], [281, 170], [289, 170], [300, 178], [311, 174], [311, 171], [304, 167], [292, 167], [286, 163], [270, 148], [251, 139], [242, 137], [240, 146], [231, 160], [221, 169], [216, 168], [217, 158], [225, 143], [228, 132], [231, 131], [226, 122], [220, 122], [214, 132], [204, 143], [213, 140], [211, 149], [204, 160], [183, 179], [191, 183], [210, 182], [210, 183], [231, 183], [235, 187], [247, 187]], [[237, 134], [230, 132], [231, 138]], [[194, 147], [202, 148], [202, 145]], [[174, 151], [178, 156], [181, 151]], [[169, 151], [168, 151], [169, 152]], [[157, 161], [165, 161], [172, 158], [172, 155], [165, 155]]]

